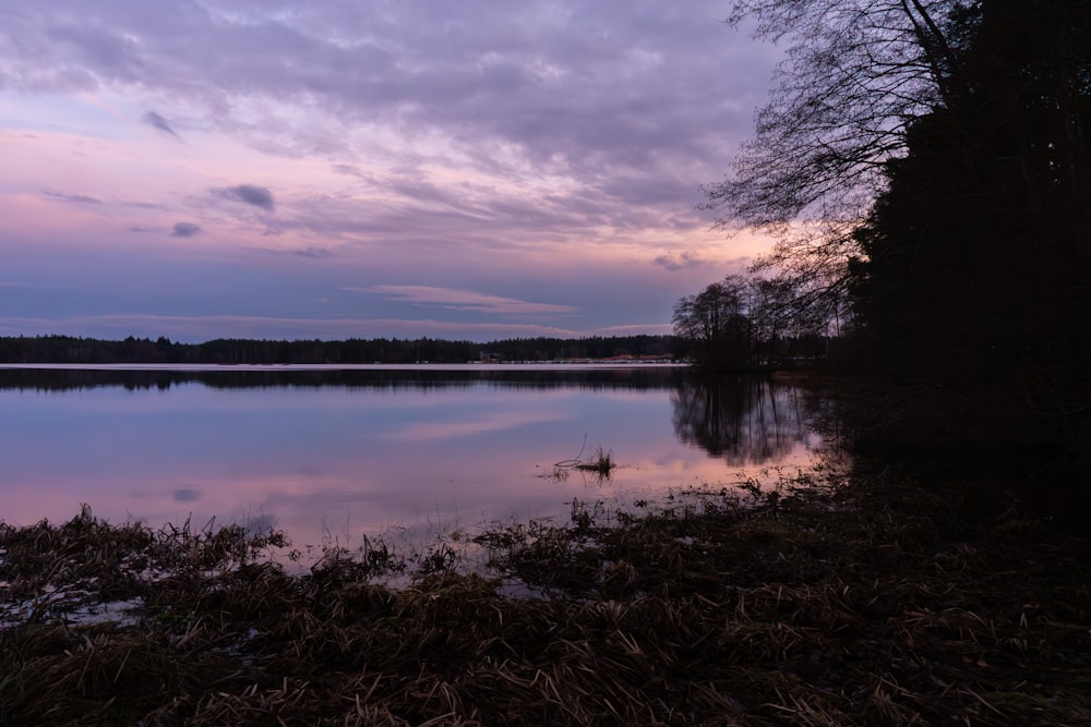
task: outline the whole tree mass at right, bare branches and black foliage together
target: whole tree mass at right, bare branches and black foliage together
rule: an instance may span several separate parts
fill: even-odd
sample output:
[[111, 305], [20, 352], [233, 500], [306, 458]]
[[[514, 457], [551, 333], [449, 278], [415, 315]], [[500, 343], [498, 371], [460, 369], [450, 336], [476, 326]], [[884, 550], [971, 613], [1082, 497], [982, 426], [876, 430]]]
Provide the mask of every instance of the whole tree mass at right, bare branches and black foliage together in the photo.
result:
[[762, 265], [798, 310], [851, 306], [863, 367], [913, 391], [884, 436], [1034, 447], [1091, 483], [1091, 2], [740, 0], [731, 20], [788, 60], [708, 205], [778, 237]]

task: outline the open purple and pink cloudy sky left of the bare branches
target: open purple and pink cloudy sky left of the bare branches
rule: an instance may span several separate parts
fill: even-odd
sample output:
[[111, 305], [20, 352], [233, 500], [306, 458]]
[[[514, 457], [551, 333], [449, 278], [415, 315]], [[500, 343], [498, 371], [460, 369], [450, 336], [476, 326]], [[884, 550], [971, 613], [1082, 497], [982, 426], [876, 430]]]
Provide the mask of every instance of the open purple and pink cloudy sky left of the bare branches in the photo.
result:
[[0, 335], [670, 331], [777, 49], [727, 0], [0, 7]]

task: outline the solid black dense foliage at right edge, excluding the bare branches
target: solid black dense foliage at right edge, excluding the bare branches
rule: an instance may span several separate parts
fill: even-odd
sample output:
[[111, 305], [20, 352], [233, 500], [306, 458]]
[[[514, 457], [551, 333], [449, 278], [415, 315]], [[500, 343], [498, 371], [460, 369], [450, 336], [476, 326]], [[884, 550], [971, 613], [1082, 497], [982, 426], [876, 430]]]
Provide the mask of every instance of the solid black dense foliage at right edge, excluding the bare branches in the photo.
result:
[[876, 433], [1089, 483], [1091, 3], [994, 0], [951, 23], [950, 93], [856, 234], [859, 351], [912, 393]]

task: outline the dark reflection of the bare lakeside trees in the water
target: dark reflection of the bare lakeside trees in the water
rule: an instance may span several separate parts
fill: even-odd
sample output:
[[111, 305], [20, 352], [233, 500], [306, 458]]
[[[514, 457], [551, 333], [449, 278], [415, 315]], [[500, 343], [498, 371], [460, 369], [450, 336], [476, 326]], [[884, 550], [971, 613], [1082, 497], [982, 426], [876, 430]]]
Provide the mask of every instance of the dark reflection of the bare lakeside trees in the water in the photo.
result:
[[782, 460], [811, 432], [799, 388], [767, 376], [686, 377], [671, 403], [679, 439], [730, 465]]

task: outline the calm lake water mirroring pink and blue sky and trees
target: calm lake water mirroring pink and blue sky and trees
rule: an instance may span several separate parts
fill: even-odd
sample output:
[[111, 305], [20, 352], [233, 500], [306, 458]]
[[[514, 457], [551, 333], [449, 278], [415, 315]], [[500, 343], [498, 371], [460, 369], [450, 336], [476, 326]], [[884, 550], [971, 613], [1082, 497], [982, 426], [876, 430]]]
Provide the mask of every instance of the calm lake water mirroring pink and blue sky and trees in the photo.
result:
[[[273, 524], [297, 547], [563, 516], [811, 460], [799, 392], [675, 367], [0, 367], [0, 520]], [[554, 464], [597, 447], [609, 480]]]

